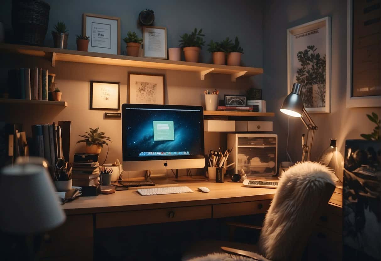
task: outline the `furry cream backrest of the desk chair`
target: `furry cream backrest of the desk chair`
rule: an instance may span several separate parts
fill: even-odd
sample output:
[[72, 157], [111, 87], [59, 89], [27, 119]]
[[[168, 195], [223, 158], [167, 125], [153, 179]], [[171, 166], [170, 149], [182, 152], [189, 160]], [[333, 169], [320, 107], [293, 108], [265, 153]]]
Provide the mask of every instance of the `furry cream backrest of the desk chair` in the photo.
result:
[[335, 183], [330, 169], [302, 162], [283, 173], [266, 214], [259, 249], [268, 259], [300, 260]]

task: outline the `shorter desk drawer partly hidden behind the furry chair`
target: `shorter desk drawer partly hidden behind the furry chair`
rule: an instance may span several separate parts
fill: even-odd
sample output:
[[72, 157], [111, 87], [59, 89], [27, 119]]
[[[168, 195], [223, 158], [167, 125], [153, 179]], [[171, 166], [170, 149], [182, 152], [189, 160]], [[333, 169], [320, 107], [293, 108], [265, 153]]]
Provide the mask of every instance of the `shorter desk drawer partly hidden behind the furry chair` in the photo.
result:
[[270, 202], [271, 200], [261, 200], [240, 203], [216, 204], [213, 205], [213, 218], [266, 213], [270, 207]]

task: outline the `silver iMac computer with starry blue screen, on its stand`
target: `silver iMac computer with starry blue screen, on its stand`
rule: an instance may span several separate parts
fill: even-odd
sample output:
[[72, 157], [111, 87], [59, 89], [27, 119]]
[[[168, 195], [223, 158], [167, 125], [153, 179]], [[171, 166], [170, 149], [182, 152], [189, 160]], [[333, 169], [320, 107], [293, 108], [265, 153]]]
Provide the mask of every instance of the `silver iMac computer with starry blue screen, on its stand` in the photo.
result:
[[156, 184], [176, 184], [167, 169], [203, 168], [203, 122], [201, 106], [123, 104], [123, 170], [147, 170]]

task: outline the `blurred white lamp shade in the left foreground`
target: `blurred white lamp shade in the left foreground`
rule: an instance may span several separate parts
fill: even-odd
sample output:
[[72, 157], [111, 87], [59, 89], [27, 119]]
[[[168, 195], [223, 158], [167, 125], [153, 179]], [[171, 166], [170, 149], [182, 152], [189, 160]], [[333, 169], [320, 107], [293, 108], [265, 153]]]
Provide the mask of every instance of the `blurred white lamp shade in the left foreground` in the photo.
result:
[[13, 234], [45, 232], [66, 220], [48, 173], [32, 164], [2, 170], [0, 211], [0, 229]]

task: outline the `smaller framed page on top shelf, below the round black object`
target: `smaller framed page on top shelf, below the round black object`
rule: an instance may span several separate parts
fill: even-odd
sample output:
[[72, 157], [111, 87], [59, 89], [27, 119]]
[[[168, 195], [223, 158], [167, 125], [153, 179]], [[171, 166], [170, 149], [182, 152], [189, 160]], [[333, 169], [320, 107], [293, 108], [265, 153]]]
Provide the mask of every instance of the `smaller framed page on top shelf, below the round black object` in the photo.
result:
[[167, 59], [166, 27], [143, 27], [143, 57]]

